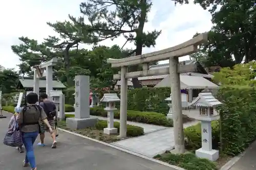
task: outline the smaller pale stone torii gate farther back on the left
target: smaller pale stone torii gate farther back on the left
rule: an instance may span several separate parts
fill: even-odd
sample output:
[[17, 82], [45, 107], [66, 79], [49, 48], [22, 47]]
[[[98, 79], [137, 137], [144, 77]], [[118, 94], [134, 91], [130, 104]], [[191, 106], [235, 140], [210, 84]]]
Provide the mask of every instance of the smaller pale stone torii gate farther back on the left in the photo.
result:
[[[50, 61], [42, 63], [40, 65], [35, 65], [31, 67], [34, 71], [34, 86], [33, 91], [39, 95], [39, 79], [41, 77], [46, 77], [46, 94], [49, 95], [50, 91], [53, 90], [53, 66], [58, 62], [57, 58], [53, 58]], [[44, 72], [46, 70], [46, 72]]]

